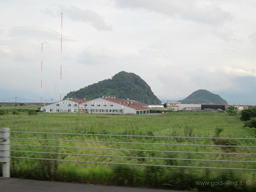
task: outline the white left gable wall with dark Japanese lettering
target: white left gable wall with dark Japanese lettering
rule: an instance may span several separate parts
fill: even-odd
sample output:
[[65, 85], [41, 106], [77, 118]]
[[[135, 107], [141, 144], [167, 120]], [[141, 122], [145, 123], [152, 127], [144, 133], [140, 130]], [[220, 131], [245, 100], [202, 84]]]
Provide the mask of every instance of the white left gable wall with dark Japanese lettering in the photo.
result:
[[[74, 112], [78, 112], [79, 103], [74, 102], [74, 101], [70, 101], [68, 99], [65, 99], [65, 100], [60, 101], [60, 102], [52, 103], [52, 104], [47, 105], [47, 106], [42, 106], [40, 108], [40, 110], [45, 111], [45, 112], [49, 112], [49, 113], [59, 113], [59, 112], [74, 113]], [[64, 104], [63, 104], [63, 102], [64, 102]], [[70, 103], [70, 106], [68, 106], [69, 103]], [[57, 106], [57, 105], [59, 105], [59, 106]], [[74, 106], [74, 105], [76, 105], [76, 106]], [[59, 111], [57, 109], [59, 109]]]

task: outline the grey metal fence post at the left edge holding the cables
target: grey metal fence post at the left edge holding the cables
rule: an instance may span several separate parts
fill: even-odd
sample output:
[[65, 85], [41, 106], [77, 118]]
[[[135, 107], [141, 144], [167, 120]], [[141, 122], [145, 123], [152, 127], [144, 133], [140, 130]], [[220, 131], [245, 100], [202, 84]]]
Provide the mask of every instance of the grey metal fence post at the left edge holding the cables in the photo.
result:
[[3, 162], [3, 177], [10, 177], [10, 129], [0, 129], [0, 162]]

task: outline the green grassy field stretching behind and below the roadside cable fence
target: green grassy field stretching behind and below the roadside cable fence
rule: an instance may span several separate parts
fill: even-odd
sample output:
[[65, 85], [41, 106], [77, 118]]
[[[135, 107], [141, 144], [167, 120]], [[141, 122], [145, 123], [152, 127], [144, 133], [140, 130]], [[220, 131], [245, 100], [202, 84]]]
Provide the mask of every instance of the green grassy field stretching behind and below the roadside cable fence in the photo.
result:
[[[255, 138], [255, 133], [243, 128], [239, 116], [227, 116], [225, 113], [167, 113], [155, 116], [143, 115], [100, 115], [100, 114], [71, 114], [71, 113], [38, 113], [29, 116], [27, 106], [20, 106], [21, 115], [14, 115], [11, 107], [8, 115], [0, 116], [0, 128], [9, 127], [11, 131], [55, 132], [55, 133], [89, 133], [117, 135], [155, 135], [155, 136], [196, 136], [196, 137], [242, 137]], [[30, 108], [30, 107], [29, 107]], [[31, 107], [33, 108], [33, 107]], [[35, 107], [34, 107], [35, 108]], [[37, 109], [37, 107], [35, 108]], [[216, 130], [220, 130], [216, 134]], [[222, 131], [221, 131], [222, 130]], [[47, 138], [63, 140], [90, 141], [120, 141], [143, 143], [174, 143], [174, 144], [211, 144], [211, 145], [250, 145], [256, 146], [252, 140], [209, 140], [209, 139], [167, 139], [167, 138], [137, 138], [137, 137], [103, 137], [79, 135], [46, 135], [12, 133], [11, 137]], [[142, 144], [111, 144], [64, 141], [11, 140], [16, 144], [55, 145], [95, 148], [124, 148], [139, 150], [164, 151], [198, 151], [198, 152], [228, 152], [256, 153], [255, 148], [241, 147], [200, 147], [200, 146], [167, 146]], [[43, 151], [56, 153], [76, 153], [94, 155], [118, 155], [138, 157], [163, 157], [186, 159], [217, 159], [234, 161], [255, 161], [253, 155], [224, 155], [224, 154], [187, 154], [140, 151], [113, 151], [50, 148], [32, 146], [11, 146], [12, 150]], [[199, 167], [233, 167], [256, 169], [255, 163], [206, 162], [184, 160], [157, 160], [134, 158], [111, 158], [99, 156], [56, 155], [12, 152], [12, 156], [52, 158], [80, 161], [118, 162], [136, 164], [159, 164]], [[197, 168], [173, 168], [151, 166], [128, 166], [94, 163], [54, 162], [31, 159], [12, 159], [11, 176], [29, 179], [55, 180], [68, 182], [86, 182], [110, 185], [136, 187], [153, 187], [179, 189], [190, 191], [255, 191], [256, 172], [248, 170], [218, 170]], [[251, 181], [251, 185], [198, 186], [197, 181]]]

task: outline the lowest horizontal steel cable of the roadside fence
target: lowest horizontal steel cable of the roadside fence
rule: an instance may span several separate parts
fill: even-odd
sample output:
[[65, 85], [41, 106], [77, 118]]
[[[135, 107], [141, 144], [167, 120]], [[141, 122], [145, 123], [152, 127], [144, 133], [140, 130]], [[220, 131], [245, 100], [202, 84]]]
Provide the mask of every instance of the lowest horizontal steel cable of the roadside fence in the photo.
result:
[[118, 165], [141, 165], [141, 166], [157, 166], [157, 167], [183, 167], [183, 168], [201, 168], [201, 169], [232, 169], [232, 170], [252, 170], [246, 168], [226, 168], [226, 167], [193, 167], [193, 166], [178, 166], [178, 165], [151, 165], [151, 164], [135, 164], [135, 163], [113, 163], [113, 162], [97, 162], [97, 161], [76, 161], [76, 160], [65, 160], [65, 159], [44, 159], [44, 158], [32, 158], [32, 157], [13, 157], [9, 158], [20, 158], [20, 159], [38, 159], [38, 160], [50, 160], [50, 161], [68, 161], [68, 162], [80, 162], [80, 163], [103, 163], [103, 164], [118, 164]]

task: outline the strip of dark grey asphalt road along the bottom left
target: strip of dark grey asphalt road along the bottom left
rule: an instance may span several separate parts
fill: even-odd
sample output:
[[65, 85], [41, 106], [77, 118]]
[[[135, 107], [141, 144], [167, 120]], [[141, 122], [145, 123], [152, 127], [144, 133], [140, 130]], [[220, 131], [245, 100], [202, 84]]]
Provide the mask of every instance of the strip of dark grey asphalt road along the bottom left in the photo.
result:
[[117, 186], [105, 186], [105, 185], [89, 185], [80, 183], [64, 183], [64, 182], [49, 182], [49, 181], [37, 181], [28, 179], [17, 178], [5, 178], [0, 177], [0, 191], [3, 192], [182, 192], [175, 190], [163, 190], [163, 189], [147, 189], [147, 188], [135, 188], [135, 187], [117, 187]]

